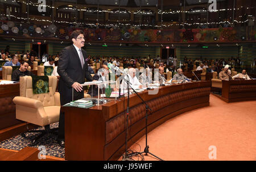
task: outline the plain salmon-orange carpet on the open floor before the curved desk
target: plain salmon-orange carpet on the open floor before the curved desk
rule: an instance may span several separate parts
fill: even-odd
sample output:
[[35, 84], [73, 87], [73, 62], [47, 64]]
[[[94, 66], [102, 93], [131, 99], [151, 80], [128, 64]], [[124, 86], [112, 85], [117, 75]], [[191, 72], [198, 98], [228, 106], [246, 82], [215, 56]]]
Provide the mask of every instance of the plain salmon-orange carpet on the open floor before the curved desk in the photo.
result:
[[[141, 151], [145, 138], [136, 142]], [[137, 144], [130, 149], [139, 151]], [[149, 132], [148, 145], [163, 160], [210, 160], [208, 148], [214, 145], [212, 160], [255, 161], [256, 101], [228, 104], [210, 94], [210, 106], [180, 114]], [[144, 159], [157, 160], [151, 155]]]

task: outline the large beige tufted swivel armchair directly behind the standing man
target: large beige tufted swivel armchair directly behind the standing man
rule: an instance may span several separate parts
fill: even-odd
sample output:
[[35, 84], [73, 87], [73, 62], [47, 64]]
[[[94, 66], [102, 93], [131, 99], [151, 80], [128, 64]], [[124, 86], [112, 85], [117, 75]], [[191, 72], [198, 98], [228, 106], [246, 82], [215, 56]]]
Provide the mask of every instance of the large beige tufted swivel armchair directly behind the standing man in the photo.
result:
[[[32, 130], [27, 132], [41, 132], [32, 143], [48, 133], [57, 134], [57, 128], [50, 129], [49, 124], [59, 122], [60, 94], [56, 91], [57, 77], [48, 76], [49, 92], [44, 94], [33, 94], [32, 77], [20, 77], [20, 96], [13, 99], [16, 105], [16, 119], [42, 126], [45, 130]], [[26, 137], [25, 134], [22, 136]]]

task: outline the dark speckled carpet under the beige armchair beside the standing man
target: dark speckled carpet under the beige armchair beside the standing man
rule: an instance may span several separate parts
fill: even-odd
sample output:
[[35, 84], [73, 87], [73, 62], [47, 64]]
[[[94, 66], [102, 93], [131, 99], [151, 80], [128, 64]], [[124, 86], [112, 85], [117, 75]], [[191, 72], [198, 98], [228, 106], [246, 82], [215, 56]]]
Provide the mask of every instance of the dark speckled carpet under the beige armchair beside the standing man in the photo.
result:
[[[59, 122], [50, 125], [50, 128], [56, 128], [59, 126]], [[36, 128], [34, 130], [43, 130], [43, 127]], [[53, 157], [65, 157], [65, 148], [60, 147], [57, 143], [57, 135], [47, 134], [41, 137], [35, 145], [32, 145], [32, 141], [39, 133], [26, 133], [26, 137], [22, 135], [17, 135], [11, 137], [8, 140], [4, 140], [0, 143], [0, 148], [21, 150], [25, 147], [35, 147], [38, 148], [40, 145], [46, 147], [46, 155]]]

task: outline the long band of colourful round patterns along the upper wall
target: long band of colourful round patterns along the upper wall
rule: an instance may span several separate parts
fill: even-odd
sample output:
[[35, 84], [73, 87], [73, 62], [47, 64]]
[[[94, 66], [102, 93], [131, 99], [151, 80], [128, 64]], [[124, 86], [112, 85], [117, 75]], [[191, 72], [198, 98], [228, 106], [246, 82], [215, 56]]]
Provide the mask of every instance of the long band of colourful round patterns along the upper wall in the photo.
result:
[[[9, 21], [10, 22], [10, 21]], [[12, 22], [12, 21], [11, 21]], [[61, 25], [35, 25], [27, 23], [13, 23], [1, 25], [0, 35], [18, 37], [56, 38], [56, 40], [69, 40], [71, 33], [76, 29], [84, 31], [86, 41], [99, 42], [136, 42], [147, 43], [205, 43], [205, 42], [236, 42], [255, 41], [256, 28], [252, 31], [245, 27], [228, 28], [196, 28], [196, 29], [139, 29], [130, 26], [122, 28], [75, 28]], [[248, 32], [248, 33], [246, 33]]]

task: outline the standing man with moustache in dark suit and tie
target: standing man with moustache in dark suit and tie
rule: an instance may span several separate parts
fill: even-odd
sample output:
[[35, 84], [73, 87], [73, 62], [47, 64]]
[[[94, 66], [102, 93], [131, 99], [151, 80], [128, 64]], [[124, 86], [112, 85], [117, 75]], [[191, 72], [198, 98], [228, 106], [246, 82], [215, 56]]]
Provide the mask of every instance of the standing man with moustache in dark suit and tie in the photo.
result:
[[[61, 106], [73, 100], [79, 100], [84, 97], [82, 85], [87, 81], [93, 81], [92, 76], [88, 71], [86, 61], [86, 51], [81, 49], [84, 46], [85, 38], [82, 31], [73, 31], [71, 34], [73, 45], [65, 47], [60, 54], [57, 73], [60, 75], [59, 92]], [[59, 120], [59, 136], [58, 141], [61, 147], [65, 147], [64, 136], [64, 113], [60, 111]]]

